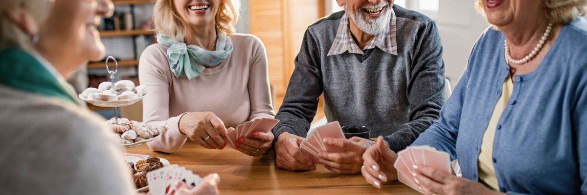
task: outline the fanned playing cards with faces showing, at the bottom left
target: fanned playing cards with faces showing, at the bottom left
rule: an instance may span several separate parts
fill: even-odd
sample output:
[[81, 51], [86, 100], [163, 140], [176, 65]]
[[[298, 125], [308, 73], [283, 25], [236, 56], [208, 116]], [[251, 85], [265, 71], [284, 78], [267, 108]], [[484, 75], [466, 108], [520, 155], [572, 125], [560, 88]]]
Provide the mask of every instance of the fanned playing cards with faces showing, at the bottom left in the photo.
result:
[[185, 167], [177, 165], [165, 166], [147, 173], [147, 183], [149, 183], [151, 195], [167, 194], [177, 182], [184, 182], [191, 189], [198, 186], [202, 182], [202, 178], [192, 173], [191, 170], [185, 170]]

